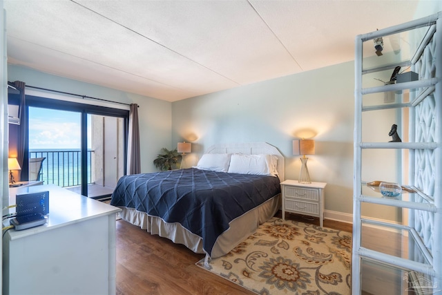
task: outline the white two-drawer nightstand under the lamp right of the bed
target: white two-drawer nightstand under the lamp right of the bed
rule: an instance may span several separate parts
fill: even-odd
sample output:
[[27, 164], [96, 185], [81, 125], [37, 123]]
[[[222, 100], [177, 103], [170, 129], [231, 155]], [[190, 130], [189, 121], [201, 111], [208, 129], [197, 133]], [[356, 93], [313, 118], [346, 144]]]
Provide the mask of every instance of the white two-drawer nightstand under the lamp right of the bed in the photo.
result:
[[281, 182], [282, 219], [285, 211], [319, 217], [320, 227], [324, 221], [325, 182], [299, 183], [298, 180]]

